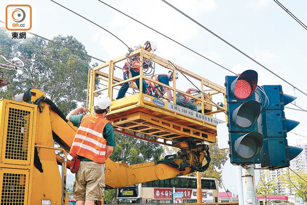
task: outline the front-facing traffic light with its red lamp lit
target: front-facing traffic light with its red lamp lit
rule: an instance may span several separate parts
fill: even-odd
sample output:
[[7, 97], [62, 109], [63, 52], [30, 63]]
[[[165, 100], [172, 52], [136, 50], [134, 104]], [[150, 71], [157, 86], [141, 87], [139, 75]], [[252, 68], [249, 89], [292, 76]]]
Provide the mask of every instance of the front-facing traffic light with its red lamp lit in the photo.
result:
[[255, 100], [258, 74], [247, 70], [226, 76], [226, 99], [230, 162], [236, 165], [259, 164], [263, 136], [258, 132], [261, 106]]

